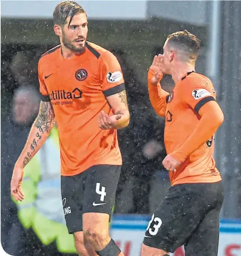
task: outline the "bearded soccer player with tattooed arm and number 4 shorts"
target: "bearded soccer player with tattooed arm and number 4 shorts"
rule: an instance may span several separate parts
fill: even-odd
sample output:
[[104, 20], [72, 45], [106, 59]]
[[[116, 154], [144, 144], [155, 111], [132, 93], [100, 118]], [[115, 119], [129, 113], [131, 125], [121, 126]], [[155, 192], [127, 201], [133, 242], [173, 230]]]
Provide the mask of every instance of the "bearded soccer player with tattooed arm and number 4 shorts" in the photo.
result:
[[109, 236], [109, 221], [122, 164], [117, 129], [129, 124], [123, 74], [112, 53], [87, 41], [87, 14], [80, 5], [58, 3], [53, 19], [61, 44], [39, 60], [42, 101], [14, 167], [11, 193], [16, 200], [24, 199], [24, 166], [42, 147], [56, 120], [62, 204], [77, 253], [121, 256]]

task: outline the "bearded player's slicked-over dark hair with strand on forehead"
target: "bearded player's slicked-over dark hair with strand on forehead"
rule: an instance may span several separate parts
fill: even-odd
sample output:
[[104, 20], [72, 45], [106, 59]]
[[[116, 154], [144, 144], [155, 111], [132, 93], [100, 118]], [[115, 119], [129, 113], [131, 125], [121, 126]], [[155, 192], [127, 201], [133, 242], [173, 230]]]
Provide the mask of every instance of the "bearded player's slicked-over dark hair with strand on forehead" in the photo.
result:
[[69, 24], [71, 24], [73, 16], [77, 13], [86, 13], [86, 11], [74, 1], [62, 1], [54, 9], [54, 24], [62, 26], [68, 17], [71, 17], [69, 20]]

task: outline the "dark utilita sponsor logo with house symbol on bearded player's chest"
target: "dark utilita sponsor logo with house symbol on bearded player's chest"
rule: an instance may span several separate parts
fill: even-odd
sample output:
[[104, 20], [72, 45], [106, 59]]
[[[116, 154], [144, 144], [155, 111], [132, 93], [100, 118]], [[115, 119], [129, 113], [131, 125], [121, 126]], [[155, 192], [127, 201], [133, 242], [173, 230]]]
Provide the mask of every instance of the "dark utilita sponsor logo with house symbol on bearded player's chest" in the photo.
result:
[[82, 97], [81, 90], [75, 88], [72, 92], [65, 90], [55, 90], [49, 94], [50, 100], [53, 105], [69, 105], [73, 104], [73, 99], [79, 99]]

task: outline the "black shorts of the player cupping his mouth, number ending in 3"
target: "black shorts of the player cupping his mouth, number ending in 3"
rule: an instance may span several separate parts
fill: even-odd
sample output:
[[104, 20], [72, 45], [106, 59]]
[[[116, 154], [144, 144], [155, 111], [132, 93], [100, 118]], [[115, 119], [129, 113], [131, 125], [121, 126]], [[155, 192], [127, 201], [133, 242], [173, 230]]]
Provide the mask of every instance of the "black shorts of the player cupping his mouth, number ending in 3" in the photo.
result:
[[143, 243], [166, 252], [184, 244], [186, 256], [217, 256], [223, 184], [172, 186], [155, 210]]

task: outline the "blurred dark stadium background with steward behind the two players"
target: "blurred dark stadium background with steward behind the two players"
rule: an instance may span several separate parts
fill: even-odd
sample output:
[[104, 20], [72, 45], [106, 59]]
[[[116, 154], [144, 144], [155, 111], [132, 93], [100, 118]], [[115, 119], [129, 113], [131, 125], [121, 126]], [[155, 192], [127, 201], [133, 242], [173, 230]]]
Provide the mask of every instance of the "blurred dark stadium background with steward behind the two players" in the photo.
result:
[[[155, 115], [147, 70], [166, 37], [187, 29], [201, 40], [196, 71], [209, 76], [225, 122], [216, 134], [215, 159], [223, 175], [218, 256], [241, 255], [241, 2], [77, 1], [87, 12], [88, 41], [116, 55], [123, 70], [130, 125], [118, 131], [123, 169], [111, 232], [125, 256], [140, 255], [144, 231], [169, 189], [162, 167], [164, 119]], [[58, 131], [25, 168], [27, 199], [10, 197], [10, 178], [38, 114], [38, 60], [59, 44], [52, 13], [58, 1], [1, 1], [1, 244], [10, 255], [76, 255], [60, 196]], [[172, 92], [165, 76], [162, 86]], [[175, 253], [183, 256], [182, 248]]]

